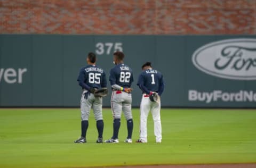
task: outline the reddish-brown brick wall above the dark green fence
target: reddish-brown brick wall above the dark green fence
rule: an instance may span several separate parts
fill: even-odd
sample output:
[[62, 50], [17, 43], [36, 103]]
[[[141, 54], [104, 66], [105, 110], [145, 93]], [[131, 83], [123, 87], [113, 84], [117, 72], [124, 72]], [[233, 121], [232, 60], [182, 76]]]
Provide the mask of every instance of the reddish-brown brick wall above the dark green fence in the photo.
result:
[[255, 34], [256, 0], [0, 0], [0, 33]]

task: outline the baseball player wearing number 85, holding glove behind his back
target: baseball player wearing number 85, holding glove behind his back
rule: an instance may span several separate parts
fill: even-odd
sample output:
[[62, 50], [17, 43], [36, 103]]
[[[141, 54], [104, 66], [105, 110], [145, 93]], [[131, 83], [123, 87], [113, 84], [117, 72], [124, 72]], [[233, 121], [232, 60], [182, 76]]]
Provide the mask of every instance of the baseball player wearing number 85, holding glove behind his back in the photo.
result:
[[81, 97], [81, 137], [75, 140], [75, 143], [86, 142], [86, 132], [88, 128], [88, 119], [91, 107], [93, 108], [94, 118], [97, 121], [98, 139], [97, 143], [102, 143], [103, 118], [102, 118], [102, 97], [94, 96], [97, 89], [106, 88], [107, 80], [105, 72], [99, 68], [96, 63], [96, 55], [89, 53], [87, 55], [87, 66], [79, 72], [77, 81], [83, 89]]

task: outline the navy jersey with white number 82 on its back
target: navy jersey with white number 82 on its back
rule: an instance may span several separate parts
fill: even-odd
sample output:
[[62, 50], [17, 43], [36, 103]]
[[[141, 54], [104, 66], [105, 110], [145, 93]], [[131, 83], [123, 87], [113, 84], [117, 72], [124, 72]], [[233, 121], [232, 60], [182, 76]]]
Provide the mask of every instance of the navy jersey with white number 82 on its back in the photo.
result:
[[109, 81], [112, 85], [119, 85], [124, 88], [130, 88], [133, 82], [132, 69], [125, 64], [117, 64], [110, 70]]

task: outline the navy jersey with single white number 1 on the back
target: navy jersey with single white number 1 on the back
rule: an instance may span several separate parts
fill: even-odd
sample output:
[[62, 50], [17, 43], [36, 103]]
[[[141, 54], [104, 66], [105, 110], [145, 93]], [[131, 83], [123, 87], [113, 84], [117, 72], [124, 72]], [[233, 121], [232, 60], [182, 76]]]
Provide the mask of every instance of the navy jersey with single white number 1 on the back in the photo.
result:
[[149, 94], [150, 91], [155, 91], [161, 95], [164, 91], [163, 75], [157, 70], [145, 70], [140, 74], [137, 85], [143, 93]]

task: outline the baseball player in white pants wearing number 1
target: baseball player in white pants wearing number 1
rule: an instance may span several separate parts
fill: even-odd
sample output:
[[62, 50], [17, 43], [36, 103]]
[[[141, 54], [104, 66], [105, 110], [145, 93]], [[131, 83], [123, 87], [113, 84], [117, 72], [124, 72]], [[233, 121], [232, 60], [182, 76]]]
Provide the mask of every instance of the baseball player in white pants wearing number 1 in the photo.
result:
[[[162, 142], [161, 126], [161, 102], [160, 97], [164, 91], [164, 79], [162, 73], [152, 69], [151, 63], [142, 65], [143, 72], [139, 75], [137, 85], [142, 90], [140, 103], [140, 139], [137, 142], [146, 143], [147, 140], [147, 117], [151, 111], [154, 120], [154, 132], [156, 142]], [[156, 99], [158, 98], [158, 101]]]

